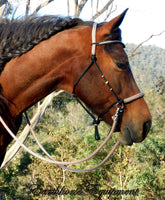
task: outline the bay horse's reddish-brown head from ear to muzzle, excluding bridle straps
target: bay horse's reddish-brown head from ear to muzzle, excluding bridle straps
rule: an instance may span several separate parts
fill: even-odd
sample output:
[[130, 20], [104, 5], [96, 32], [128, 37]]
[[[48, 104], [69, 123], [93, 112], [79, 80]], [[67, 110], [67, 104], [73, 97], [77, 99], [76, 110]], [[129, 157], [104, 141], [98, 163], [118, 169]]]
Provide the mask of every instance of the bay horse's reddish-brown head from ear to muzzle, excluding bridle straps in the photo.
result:
[[[78, 84], [76, 84], [75, 91], [78, 97], [97, 115], [100, 115], [102, 111], [113, 105], [116, 102], [116, 97], [118, 99], [125, 99], [140, 92], [131, 72], [128, 56], [124, 51], [124, 45], [120, 43], [121, 31], [119, 26], [123, 21], [126, 11], [97, 28], [96, 43], [101, 45], [96, 47], [96, 57], [97, 65], [100, 67], [102, 73], [99, 73], [96, 66], [92, 66], [83, 75]], [[85, 36], [84, 29], [82, 40], [91, 44], [91, 38], [88, 38], [87, 41]], [[81, 48], [81, 44], [79, 48]], [[79, 55], [79, 63], [80, 66], [88, 66], [89, 49], [87, 50], [85, 47], [83, 49], [83, 52]], [[105, 84], [105, 80], [101, 76], [106, 77], [115, 95], [109, 90]], [[108, 109], [101, 118], [112, 125], [112, 116], [115, 110], [116, 104]], [[117, 127], [117, 130], [120, 130], [119, 141], [121, 143], [132, 145], [134, 142], [143, 141], [150, 127], [151, 115], [143, 98], [124, 105], [124, 112]]]

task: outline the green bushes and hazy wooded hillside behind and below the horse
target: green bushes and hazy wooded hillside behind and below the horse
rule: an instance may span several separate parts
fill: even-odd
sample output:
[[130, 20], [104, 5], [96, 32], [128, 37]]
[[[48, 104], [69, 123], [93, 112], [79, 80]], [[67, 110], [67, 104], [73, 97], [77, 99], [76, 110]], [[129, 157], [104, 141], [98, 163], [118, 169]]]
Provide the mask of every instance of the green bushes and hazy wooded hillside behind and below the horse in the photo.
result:
[[[129, 55], [135, 47], [128, 45]], [[0, 171], [2, 199], [165, 199], [165, 50], [143, 46], [138, 52], [141, 54], [130, 57], [130, 64], [138, 85], [145, 92], [153, 117], [148, 137], [131, 147], [120, 145], [103, 167], [82, 174], [65, 171], [20, 151]], [[101, 123], [101, 141], [95, 141], [90, 122], [89, 116], [70, 95], [61, 94], [53, 100], [35, 131], [56, 160], [72, 161], [89, 155], [109, 131], [108, 125]], [[114, 135], [94, 159], [70, 167], [97, 165], [116, 138]], [[42, 154], [32, 136], [26, 145]]]

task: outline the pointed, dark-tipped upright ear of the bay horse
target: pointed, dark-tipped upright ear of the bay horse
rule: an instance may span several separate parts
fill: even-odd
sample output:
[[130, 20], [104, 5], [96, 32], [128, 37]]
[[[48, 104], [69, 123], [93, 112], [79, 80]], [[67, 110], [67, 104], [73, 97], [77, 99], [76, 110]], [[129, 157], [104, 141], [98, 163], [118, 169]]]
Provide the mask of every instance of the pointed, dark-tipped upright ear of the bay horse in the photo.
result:
[[122, 12], [120, 15], [118, 15], [111, 21], [104, 24], [100, 29], [101, 34], [105, 36], [107, 34], [109, 35], [110, 32], [114, 32], [115, 30], [117, 30], [119, 28], [120, 24], [122, 23], [127, 11], [128, 11], [128, 8], [126, 10], [124, 10], [124, 12]]

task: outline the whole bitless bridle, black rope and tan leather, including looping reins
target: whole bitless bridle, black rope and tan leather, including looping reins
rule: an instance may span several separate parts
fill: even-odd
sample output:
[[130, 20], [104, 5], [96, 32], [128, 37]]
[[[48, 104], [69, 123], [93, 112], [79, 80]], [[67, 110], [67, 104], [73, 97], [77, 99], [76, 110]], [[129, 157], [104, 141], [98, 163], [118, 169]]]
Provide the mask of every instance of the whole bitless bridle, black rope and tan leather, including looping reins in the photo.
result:
[[[108, 155], [103, 159], [103, 161], [101, 163], [99, 163], [97, 166], [95, 167], [92, 167], [92, 168], [89, 168], [89, 169], [72, 169], [72, 168], [69, 168], [69, 167], [66, 167], [64, 165], [71, 165], [71, 164], [77, 164], [77, 163], [81, 163], [81, 162], [84, 162], [84, 161], [87, 161], [89, 159], [91, 159], [92, 157], [94, 157], [101, 149], [102, 147], [107, 143], [107, 141], [111, 138], [112, 136], [112, 133], [114, 132], [115, 130], [115, 127], [117, 125], [117, 121], [118, 121], [118, 117], [120, 115], [121, 112], [123, 112], [124, 110], [124, 105], [127, 104], [127, 103], [130, 103], [132, 101], [135, 101], [139, 98], [142, 98], [144, 96], [143, 93], [138, 93], [138, 94], [135, 94], [131, 97], [128, 97], [126, 99], [120, 99], [118, 98], [118, 96], [116, 95], [116, 93], [114, 92], [114, 90], [112, 89], [112, 87], [110, 86], [109, 82], [107, 81], [107, 79], [105, 78], [104, 74], [102, 73], [101, 69], [99, 68], [98, 64], [97, 64], [97, 58], [96, 58], [96, 46], [100, 46], [100, 45], [105, 45], [105, 44], [109, 44], [109, 43], [120, 43], [124, 46], [124, 44], [121, 42], [121, 41], [118, 41], [118, 40], [108, 40], [108, 41], [101, 41], [101, 42], [98, 42], [96, 43], [96, 29], [97, 29], [97, 24], [94, 23], [93, 24], [93, 29], [92, 29], [92, 55], [91, 55], [91, 63], [90, 65], [86, 68], [86, 70], [82, 73], [82, 75], [79, 77], [79, 79], [77, 80], [77, 82], [75, 83], [74, 85], [74, 88], [73, 88], [73, 94], [74, 96], [76, 97], [77, 101], [80, 103], [80, 105], [85, 109], [85, 111], [93, 118], [93, 124], [95, 126], [95, 138], [96, 140], [100, 139], [100, 136], [98, 134], [98, 125], [100, 123], [100, 120], [101, 120], [101, 117], [106, 113], [108, 112], [108, 110], [110, 108], [112, 108], [115, 104], [117, 105], [117, 108], [116, 108], [116, 113], [112, 116], [112, 120], [113, 120], [113, 124], [112, 124], [112, 127], [111, 127], [111, 130], [108, 134], [108, 136], [106, 137], [106, 139], [102, 142], [102, 144], [94, 151], [92, 152], [89, 156], [87, 156], [86, 158], [83, 158], [81, 160], [75, 160], [75, 161], [71, 161], [71, 162], [61, 162], [61, 161], [56, 161], [54, 160], [54, 158], [44, 149], [44, 147], [40, 144], [40, 142], [38, 141], [38, 138], [36, 137], [34, 131], [33, 131], [33, 128], [32, 128], [32, 125], [31, 125], [31, 122], [27, 116], [27, 113], [25, 112], [25, 116], [26, 116], [26, 119], [27, 119], [27, 123], [29, 124], [29, 128], [30, 128], [30, 131], [32, 132], [33, 136], [34, 136], [34, 139], [36, 140], [37, 144], [39, 145], [39, 147], [41, 148], [41, 150], [45, 153], [45, 155], [48, 157], [48, 158], [45, 158], [45, 157], [42, 157], [41, 155], [33, 152], [32, 150], [30, 150], [28, 147], [26, 147], [16, 136], [15, 134], [9, 129], [9, 127], [6, 125], [5, 121], [3, 120], [3, 118], [0, 116], [0, 122], [2, 123], [2, 125], [4, 126], [4, 128], [7, 130], [7, 132], [11, 135], [11, 137], [22, 147], [24, 148], [28, 153], [30, 153], [31, 155], [41, 159], [41, 160], [44, 160], [46, 162], [49, 162], [49, 163], [54, 163], [54, 164], [57, 164], [59, 165], [60, 167], [62, 167], [63, 169], [65, 170], [69, 170], [69, 171], [72, 171], [72, 172], [88, 172], [88, 171], [92, 171], [92, 170], [95, 170], [97, 168], [99, 168], [100, 166], [102, 166], [108, 159], [109, 157], [112, 155], [112, 153], [114, 152], [114, 150], [116, 149], [116, 147], [119, 145], [119, 141], [116, 142], [116, 144], [112, 147], [111, 151], [108, 153]], [[115, 96], [116, 98], [116, 101], [114, 103], [112, 103], [110, 106], [108, 106], [107, 108], [105, 108], [99, 115], [98, 115], [98, 118], [96, 119], [96, 117], [82, 104], [82, 102], [78, 99], [78, 97], [76, 96], [76, 87], [78, 85], [78, 83], [80, 82], [80, 80], [83, 78], [83, 76], [85, 76], [85, 74], [88, 72], [88, 70], [93, 66], [95, 65], [97, 70], [99, 71], [101, 77], [103, 78], [105, 84], [108, 86], [110, 92], [113, 93], [113, 95]], [[7, 161], [8, 162], [8, 161]], [[7, 163], [6, 162], [6, 163]], [[3, 165], [4, 166], [4, 165]]]

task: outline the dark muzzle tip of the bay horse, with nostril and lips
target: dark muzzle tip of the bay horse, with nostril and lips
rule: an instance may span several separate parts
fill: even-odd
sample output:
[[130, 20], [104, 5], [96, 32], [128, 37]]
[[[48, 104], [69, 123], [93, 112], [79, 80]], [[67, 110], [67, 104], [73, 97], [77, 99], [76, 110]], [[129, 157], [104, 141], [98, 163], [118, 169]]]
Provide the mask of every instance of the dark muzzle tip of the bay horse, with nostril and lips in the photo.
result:
[[132, 145], [133, 143], [142, 142], [151, 128], [151, 120], [147, 120], [142, 125], [137, 127], [133, 123], [127, 123], [119, 135], [119, 141], [125, 145]]

